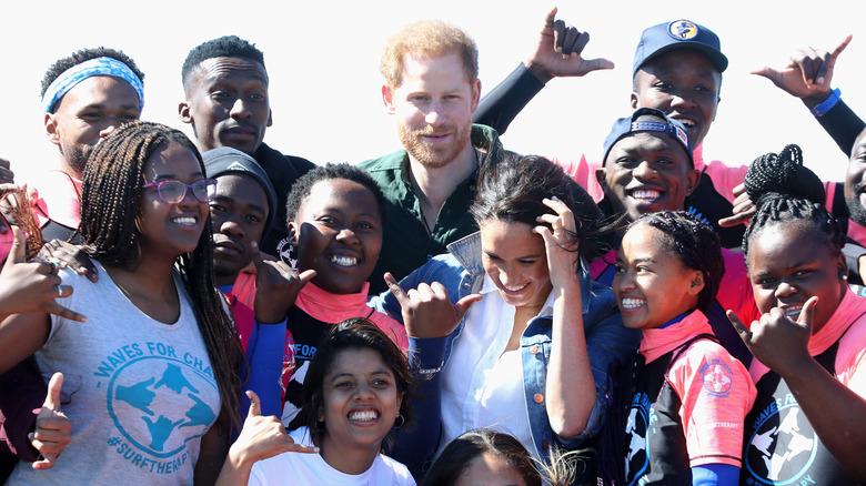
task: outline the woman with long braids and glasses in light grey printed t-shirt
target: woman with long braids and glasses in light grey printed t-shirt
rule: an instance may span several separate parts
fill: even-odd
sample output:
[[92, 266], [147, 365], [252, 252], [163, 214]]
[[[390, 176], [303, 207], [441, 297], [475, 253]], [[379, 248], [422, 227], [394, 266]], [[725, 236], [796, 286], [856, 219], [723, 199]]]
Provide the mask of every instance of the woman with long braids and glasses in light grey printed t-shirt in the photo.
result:
[[177, 130], [129, 123], [92, 153], [81, 239], [105, 277], [61, 270], [73, 322], [19, 314], [0, 324], [0, 369], [36, 355], [66, 375], [72, 442], [56, 466], [10, 484], [212, 482], [239, 396], [238, 334], [213, 282], [214, 181]]

